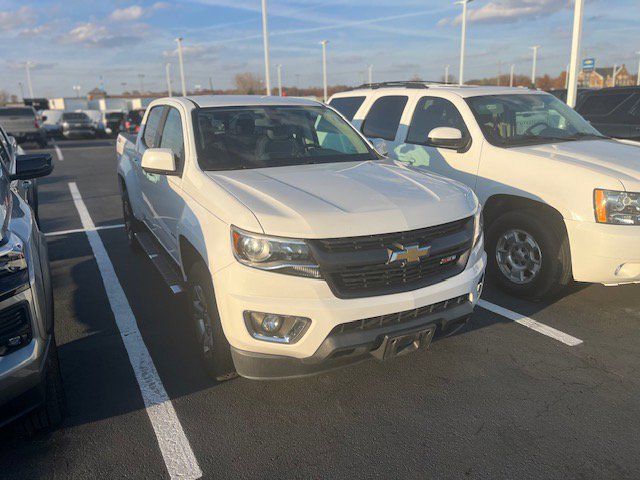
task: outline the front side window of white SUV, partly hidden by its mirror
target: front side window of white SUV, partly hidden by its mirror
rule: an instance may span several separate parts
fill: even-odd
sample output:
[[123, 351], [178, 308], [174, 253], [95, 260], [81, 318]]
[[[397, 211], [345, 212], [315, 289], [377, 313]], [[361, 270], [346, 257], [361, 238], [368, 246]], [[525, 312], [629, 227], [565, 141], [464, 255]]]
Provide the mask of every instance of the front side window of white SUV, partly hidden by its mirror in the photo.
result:
[[422, 97], [411, 119], [407, 143], [427, 145], [429, 132], [438, 127], [457, 128], [463, 138], [469, 137], [462, 115], [453, 103], [444, 98]]

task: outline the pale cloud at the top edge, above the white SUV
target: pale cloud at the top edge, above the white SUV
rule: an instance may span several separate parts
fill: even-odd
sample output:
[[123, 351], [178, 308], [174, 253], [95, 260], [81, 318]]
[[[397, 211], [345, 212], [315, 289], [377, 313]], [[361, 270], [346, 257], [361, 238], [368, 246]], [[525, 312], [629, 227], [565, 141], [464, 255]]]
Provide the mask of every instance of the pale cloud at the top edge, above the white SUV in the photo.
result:
[[[566, 0], [493, 0], [480, 8], [469, 9], [467, 20], [477, 23], [510, 23], [558, 12], [570, 2]], [[459, 25], [462, 14], [443, 18], [438, 26]]]

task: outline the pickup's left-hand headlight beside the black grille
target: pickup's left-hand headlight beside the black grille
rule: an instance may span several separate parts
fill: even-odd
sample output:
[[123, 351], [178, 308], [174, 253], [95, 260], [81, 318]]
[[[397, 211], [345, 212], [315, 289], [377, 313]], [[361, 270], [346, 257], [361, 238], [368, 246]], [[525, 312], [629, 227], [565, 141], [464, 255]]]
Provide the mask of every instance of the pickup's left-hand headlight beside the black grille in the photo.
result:
[[320, 268], [304, 240], [268, 237], [231, 227], [233, 254], [253, 268], [299, 277], [321, 278]]

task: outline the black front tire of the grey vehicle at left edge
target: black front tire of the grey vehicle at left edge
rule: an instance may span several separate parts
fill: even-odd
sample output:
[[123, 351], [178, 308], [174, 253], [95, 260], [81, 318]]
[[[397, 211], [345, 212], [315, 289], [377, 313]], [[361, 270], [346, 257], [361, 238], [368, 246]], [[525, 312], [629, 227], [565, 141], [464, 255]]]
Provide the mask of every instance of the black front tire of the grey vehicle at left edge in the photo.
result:
[[31, 436], [41, 430], [55, 428], [64, 419], [66, 399], [55, 338], [51, 340], [50, 348], [44, 379], [44, 405], [16, 425], [16, 430], [22, 435]]

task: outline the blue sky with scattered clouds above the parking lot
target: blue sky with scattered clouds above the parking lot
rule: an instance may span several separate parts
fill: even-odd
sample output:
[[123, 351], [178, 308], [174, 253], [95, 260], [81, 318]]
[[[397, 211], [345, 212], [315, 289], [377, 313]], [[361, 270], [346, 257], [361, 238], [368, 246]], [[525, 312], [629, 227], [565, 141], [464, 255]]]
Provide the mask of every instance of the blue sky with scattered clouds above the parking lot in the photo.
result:
[[[597, 66], [638, 69], [640, 0], [587, 0], [583, 56]], [[322, 84], [320, 42], [328, 40], [330, 84], [356, 85], [373, 65], [374, 81], [457, 76], [460, 5], [453, 0], [269, 0], [272, 82]], [[558, 75], [570, 55], [573, 0], [474, 0], [469, 4], [465, 78]], [[242, 72], [264, 76], [260, 0], [0, 0], [0, 89], [35, 96], [166, 89], [165, 65], [178, 85], [176, 43], [184, 38], [188, 88], [230, 88]], [[500, 67], [502, 64], [502, 67]], [[140, 75], [144, 77], [140, 78]]]

